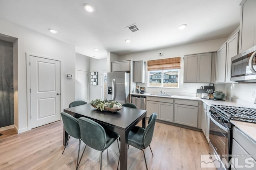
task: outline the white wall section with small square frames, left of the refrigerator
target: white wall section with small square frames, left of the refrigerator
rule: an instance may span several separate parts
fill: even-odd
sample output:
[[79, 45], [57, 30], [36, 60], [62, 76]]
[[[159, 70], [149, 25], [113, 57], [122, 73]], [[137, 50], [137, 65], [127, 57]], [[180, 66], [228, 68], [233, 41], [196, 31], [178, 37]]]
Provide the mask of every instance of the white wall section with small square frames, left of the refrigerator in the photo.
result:
[[[90, 98], [89, 101], [102, 98], [102, 71], [107, 71], [107, 59], [90, 58], [90, 72], [98, 72], [98, 85], [89, 85]], [[90, 84], [90, 82], [89, 82]]]

